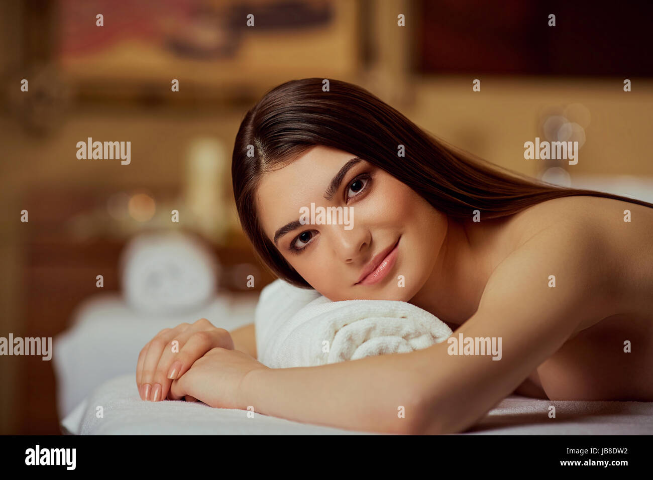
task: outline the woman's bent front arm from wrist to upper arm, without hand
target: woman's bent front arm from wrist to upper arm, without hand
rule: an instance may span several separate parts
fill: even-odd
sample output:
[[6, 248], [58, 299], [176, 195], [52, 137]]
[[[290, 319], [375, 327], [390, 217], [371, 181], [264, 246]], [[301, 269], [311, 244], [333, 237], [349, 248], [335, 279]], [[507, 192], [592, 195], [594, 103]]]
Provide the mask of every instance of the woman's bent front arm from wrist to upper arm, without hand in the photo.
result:
[[[242, 385], [266, 415], [350, 430], [448, 434], [479, 420], [573, 334], [605, 312], [605, 273], [588, 226], [552, 227], [492, 273], [477, 312], [454, 332], [501, 338], [492, 355], [449, 355], [448, 342], [411, 353], [316, 367], [261, 369]], [[550, 275], [555, 287], [550, 287]], [[498, 344], [496, 344], [498, 345]], [[498, 355], [497, 355], [498, 357]], [[405, 418], [400, 417], [402, 407]]]

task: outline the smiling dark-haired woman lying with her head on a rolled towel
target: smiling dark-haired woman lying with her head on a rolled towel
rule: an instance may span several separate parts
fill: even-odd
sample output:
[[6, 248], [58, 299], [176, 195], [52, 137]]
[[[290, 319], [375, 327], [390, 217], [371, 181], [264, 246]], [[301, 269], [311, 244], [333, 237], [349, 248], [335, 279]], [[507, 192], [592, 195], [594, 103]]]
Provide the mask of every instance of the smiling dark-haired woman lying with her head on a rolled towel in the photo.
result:
[[[247, 112], [232, 182], [244, 232], [280, 279], [332, 302], [407, 302], [454, 342], [270, 368], [253, 325], [230, 334], [201, 319], [142, 349], [143, 400], [404, 434], [462, 432], [513, 393], [653, 401], [653, 204], [501, 172], [319, 78]], [[319, 221], [320, 207], [348, 210], [349, 225]], [[475, 351], [479, 338], [500, 355]]]

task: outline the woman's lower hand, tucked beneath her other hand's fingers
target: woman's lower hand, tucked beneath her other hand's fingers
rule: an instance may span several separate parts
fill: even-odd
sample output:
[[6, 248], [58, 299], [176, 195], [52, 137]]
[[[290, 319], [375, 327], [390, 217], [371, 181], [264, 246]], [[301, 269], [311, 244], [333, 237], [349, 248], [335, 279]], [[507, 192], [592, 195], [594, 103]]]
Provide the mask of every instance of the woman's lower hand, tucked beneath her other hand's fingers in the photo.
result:
[[190, 370], [172, 382], [170, 398], [197, 398], [213, 408], [247, 409], [251, 399], [242, 389], [253, 370], [267, 370], [264, 364], [240, 350], [214, 348], [197, 360]]

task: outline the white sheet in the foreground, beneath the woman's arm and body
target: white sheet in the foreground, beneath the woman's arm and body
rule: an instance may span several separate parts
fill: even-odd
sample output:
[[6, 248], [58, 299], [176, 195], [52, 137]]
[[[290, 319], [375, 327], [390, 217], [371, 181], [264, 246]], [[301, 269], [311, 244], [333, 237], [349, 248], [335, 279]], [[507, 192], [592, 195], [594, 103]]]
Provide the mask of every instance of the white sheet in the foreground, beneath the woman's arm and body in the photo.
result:
[[[63, 427], [71, 434], [368, 434], [260, 413], [247, 418], [246, 410], [211, 408], [200, 402], [144, 402], [138, 396], [132, 374], [107, 381], [85, 402], [63, 420]], [[556, 407], [556, 418], [549, 418], [550, 405]], [[97, 406], [103, 407], [103, 418], [97, 417]], [[552, 402], [511, 395], [463, 435], [488, 434], [650, 435], [653, 402]]]

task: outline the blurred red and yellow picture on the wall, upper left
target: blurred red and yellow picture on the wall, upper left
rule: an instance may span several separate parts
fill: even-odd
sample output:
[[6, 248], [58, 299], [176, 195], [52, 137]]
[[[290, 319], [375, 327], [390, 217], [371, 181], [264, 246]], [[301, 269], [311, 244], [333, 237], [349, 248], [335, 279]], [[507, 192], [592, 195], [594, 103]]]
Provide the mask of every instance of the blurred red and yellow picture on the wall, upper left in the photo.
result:
[[360, 55], [358, 1], [57, 0], [52, 14], [54, 58], [82, 95], [167, 95], [176, 79], [182, 97], [219, 97], [349, 76]]

